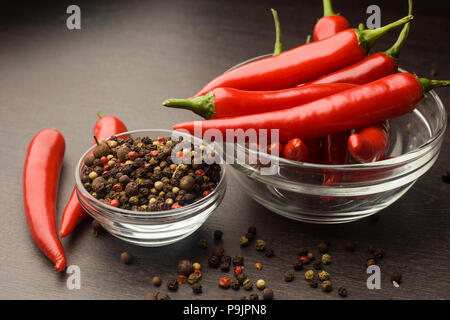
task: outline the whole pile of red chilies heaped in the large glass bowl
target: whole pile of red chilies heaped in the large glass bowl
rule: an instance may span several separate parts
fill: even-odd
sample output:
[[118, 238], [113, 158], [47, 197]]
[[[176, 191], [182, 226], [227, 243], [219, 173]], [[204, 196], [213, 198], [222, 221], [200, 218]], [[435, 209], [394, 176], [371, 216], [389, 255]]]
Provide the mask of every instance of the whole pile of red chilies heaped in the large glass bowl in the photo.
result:
[[[378, 29], [351, 29], [323, 0], [324, 16], [313, 42], [281, 53], [278, 15], [273, 56], [260, 59], [206, 84], [190, 99], [168, 99], [167, 107], [191, 110], [203, 121], [176, 124], [194, 128], [278, 129], [280, 142], [268, 152], [290, 160], [330, 165], [382, 160], [389, 149], [389, 119], [411, 112], [424, 94], [449, 81], [417, 78], [398, 72], [399, 53], [413, 19], [409, 15]], [[385, 52], [367, 55], [384, 34], [403, 26]], [[324, 184], [339, 181], [329, 174]]]

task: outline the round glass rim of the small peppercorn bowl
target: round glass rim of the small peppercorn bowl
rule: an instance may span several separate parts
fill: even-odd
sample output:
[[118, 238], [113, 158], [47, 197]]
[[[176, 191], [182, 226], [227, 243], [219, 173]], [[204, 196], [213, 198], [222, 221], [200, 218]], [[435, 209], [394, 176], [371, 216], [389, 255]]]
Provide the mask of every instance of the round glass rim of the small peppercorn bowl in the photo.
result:
[[[184, 132], [180, 132], [180, 131], [174, 131], [174, 130], [169, 130], [169, 129], [138, 129], [138, 130], [130, 130], [130, 131], [126, 131], [126, 132], [122, 132], [119, 134], [115, 134], [112, 135], [106, 139], [103, 140], [109, 140], [111, 137], [121, 137], [121, 136], [126, 136], [126, 135], [131, 135], [131, 134], [141, 134], [141, 133], [145, 133], [145, 132], [159, 132], [159, 133], [167, 133], [169, 134], [169, 136], [171, 136], [174, 132], [176, 133], [177, 136], [184, 136], [188, 139], [192, 139], [191, 141], [193, 142], [200, 142], [200, 143], [207, 143], [206, 141], [195, 137], [193, 135], [190, 135], [188, 133], [184, 133]], [[215, 147], [220, 148], [220, 146], [217, 143], [212, 143], [215, 145]], [[195, 201], [191, 204], [188, 204], [186, 206], [183, 206], [181, 208], [178, 209], [170, 209], [170, 210], [161, 210], [161, 211], [133, 211], [133, 210], [128, 210], [128, 209], [122, 209], [122, 208], [118, 208], [118, 207], [113, 207], [110, 206], [108, 204], [105, 204], [103, 202], [101, 202], [100, 200], [96, 199], [93, 195], [91, 195], [85, 188], [83, 183], [81, 182], [81, 177], [80, 177], [80, 169], [81, 166], [83, 165], [84, 162], [84, 158], [92, 151], [92, 149], [94, 149], [95, 145], [91, 146], [86, 152], [83, 153], [83, 155], [81, 156], [80, 160], [78, 160], [77, 165], [75, 167], [75, 188], [77, 189], [77, 197], [79, 198], [79, 193], [83, 192], [84, 195], [87, 195], [88, 199], [93, 201], [97, 206], [101, 207], [102, 209], [108, 211], [108, 212], [114, 212], [117, 214], [120, 214], [121, 217], [129, 217], [129, 218], [149, 218], [149, 219], [159, 219], [159, 218], [168, 218], [168, 217], [182, 217], [183, 214], [192, 214], [193, 212], [191, 210], [195, 210], [196, 207], [201, 206], [202, 204], [208, 202], [212, 197], [214, 197], [222, 188], [226, 188], [226, 185], [224, 186], [224, 184], [226, 183], [226, 166], [223, 163], [217, 163], [218, 165], [220, 165], [220, 180], [216, 185], [216, 188], [210, 193], [208, 194], [206, 197], [201, 198], [198, 201]], [[82, 189], [81, 189], [82, 188]], [[78, 199], [80, 200], [80, 199]], [[199, 212], [201, 213], [201, 212]]]

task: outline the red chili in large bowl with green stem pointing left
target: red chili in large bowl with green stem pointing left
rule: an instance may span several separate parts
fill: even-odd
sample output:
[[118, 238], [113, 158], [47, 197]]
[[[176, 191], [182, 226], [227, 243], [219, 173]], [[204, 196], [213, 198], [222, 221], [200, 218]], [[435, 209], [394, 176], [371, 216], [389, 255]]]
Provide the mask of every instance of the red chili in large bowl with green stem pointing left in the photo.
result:
[[353, 88], [354, 84], [305, 85], [277, 91], [216, 88], [194, 99], [168, 99], [166, 107], [187, 109], [205, 119], [242, 116], [286, 109]]

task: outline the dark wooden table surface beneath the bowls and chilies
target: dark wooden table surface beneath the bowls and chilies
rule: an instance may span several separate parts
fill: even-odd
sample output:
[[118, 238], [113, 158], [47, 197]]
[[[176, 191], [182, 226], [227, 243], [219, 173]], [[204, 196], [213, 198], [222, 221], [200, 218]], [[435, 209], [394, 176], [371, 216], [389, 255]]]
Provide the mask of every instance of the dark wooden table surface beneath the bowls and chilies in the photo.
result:
[[[353, 24], [365, 21], [366, 8], [378, 4], [382, 23], [406, 14], [405, 1], [340, 0], [335, 9]], [[448, 1], [416, 1], [416, 21], [401, 66], [418, 75], [450, 78], [450, 11]], [[216, 229], [224, 231], [228, 253], [245, 255], [247, 273], [266, 279], [278, 299], [336, 299], [344, 285], [347, 299], [450, 298], [449, 227], [450, 186], [441, 182], [449, 165], [450, 134], [438, 162], [399, 201], [378, 214], [344, 225], [311, 225], [290, 221], [264, 209], [231, 176], [227, 195], [210, 219], [187, 239], [161, 248], [129, 245], [108, 234], [95, 238], [89, 223], [82, 224], [63, 245], [68, 263], [81, 269], [81, 289], [68, 290], [68, 275], [57, 274], [33, 243], [22, 204], [22, 165], [25, 149], [42, 128], [56, 127], [67, 149], [58, 194], [58, 222], [74, 185], [76, 161], [92, 140], [96, 112], [114, 114], [130, 129], [170, 128], [196, 118], [189, 112], [161, 107], [168, 97], [190, 96], [215, 75], [250, 57], [271, 52], [274, 28], [269, 8], [278, 9], [285, 48], [305, 41], [321, 15], [321, 1], [78, 1], [82, 30], [66, 28], [68, 1], [3, 4], [0, 10], [0, 298], [3, 299], [142, 299], [156, 291], [151, 278], [165, 282], [176, 275], [180, 259], [204, 266], [202, 299], [239, 298], [241, 290], [217, 287], [222, 273], [206, 268], [208, 251], [197, 247]], [[396, 34], [375, 50], [384, 50]], [[440, 90], [445, 104], [450, 90]], [[276, 252], [266, 258], [252, 247], [241, 249], [239, 237], [254, 225]], [[346, 252], [346, 240], [358, 243]], [[283, 273], [291, 269], [295, 248], [314, 249], [321, 240], [331, 243], [334, 262], [328, 268], [335, 290], [311, 289], [296, 273], [291, 283]], [[380, 261], [382, 289], [366, 287], [367, 246], [384, 248]], [[135, 256], [130, 266], [120, 253]], [[254, 263], [264, 268], [256, 271]], [[390, 274], [403, 275], [400, 288]], [[166, 292], [165, 283], [160, 289]], [[194, 298], [188, 285], [173, 299]]]

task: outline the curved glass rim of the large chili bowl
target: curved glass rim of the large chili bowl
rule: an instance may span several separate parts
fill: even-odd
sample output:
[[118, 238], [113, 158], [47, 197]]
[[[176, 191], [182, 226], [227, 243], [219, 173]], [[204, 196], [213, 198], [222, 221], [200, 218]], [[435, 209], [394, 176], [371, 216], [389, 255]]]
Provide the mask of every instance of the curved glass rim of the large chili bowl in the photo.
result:
[[[228, 70], [225, 71], [231, 71], [235, 68], [238, 68], [242, 65], [245, 65], [247, 63], [256, 61], [256, 60], [260, 60], [260, 59], [264, 59], [264, 58], [268, 58], [271, 57], [272, 54], [264, 54], [264, 55], [260, 55], [254, 58], [250, 58], [248, 60], [245, 60], [243, 62], [238, 63], [237, 65], [229, 68]], [[400, 67], [398, 67], [398, 71], [399, 72], [408, 72], [405, 69], [402, 69]], [[392, 157], [392, 158], [388, 158], [388, 159], [383, 159], [380, 161], [375, 161], [375, 162], [367, 162], [367, 163], [354, 163], [354, 164], [340, 164], [340, 165], [330, 165], [330, 164], [316, 164], [316, 163], [309, 163], [309, 162], [300, 162], [300, 161], [295, 161], [295, 160], [289, 160], [289, 159], [285, 159], [282, 157], [278, 157], [278, 156], [274, 156], [265, 152], [260, 152], [258, 150], [255, 149], [251, 149], [246, 145], [243, 144], [235, 144], [236, 148], [243, 148], [245, 152], [248, 153], [252, 153], [252, 154], [263, 154], [264, 157], [270, 158], [271, 161], [277, 161], [279, 164], [284, 164], [284, 165], [289, 165], [289, 166], [294, 166], [297, 168], [302, 168], [302, 169], [319, 169], [319, 170], [323, 170], [323, 169], [333, 169], [336, 171], [356, 171], [356, 170], [374, 170], [374, 169], [382, 169], [382, 168], [387, 168], [387, 167], [392, 167], [395, 165], [399, 165], [401, 163], [406, 163], [409, 162], [413, 159], [416, 159], [418, 157], [421, 157], [424, 153], [426, 153], [428, 151], [428, 149], [432, 148], [434, 145], [434, 142], [436, 140], [439, 140], [445, 133], [445, 130], [447, 128], [447, 111], [445, 110], [444, 104], [442, 103], [442, 100], [440, 99], [440, 97], [438, 96], [438, 94], [434, 91], [431, 90], [430, 92], [427, 93], [427, 99], [429, 99], [429, 97], [432, 97], [433, 100], [435, 101], [438, 109], [439, 109], [439, 116], [442, 120], [442, 126], [440, 126], [435, 134], [433, 134], [424, 144], [422, 144], [421, 146], [419, 146], [418, 148], [414, 149], [414, 150], [410, 150], [408, 152], [405, 152], [399, 156], [396, 157]], [[414, 113], [418, 113], [419, 111], [417, 110], [417, 108], [415, 108], [412, 112]], [[243, 164], [240, 164], [243, 165]], [[244, 166], [247, 168], [253, 168], [252, 166], [249, 166], [247, 164], [244, 164]], [[255, 171], [259, 171], [255, 168], [253, 168], [253, 170]]]

